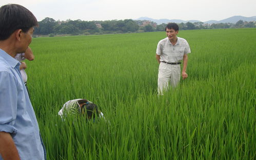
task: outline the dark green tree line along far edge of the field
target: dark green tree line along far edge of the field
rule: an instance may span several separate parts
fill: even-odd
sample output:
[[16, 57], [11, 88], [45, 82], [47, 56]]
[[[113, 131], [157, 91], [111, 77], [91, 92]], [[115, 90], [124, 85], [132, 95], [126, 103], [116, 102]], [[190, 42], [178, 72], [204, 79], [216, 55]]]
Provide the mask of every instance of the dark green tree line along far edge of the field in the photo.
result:
[[[145, 23], [147, 22], [147, 23]], [[134, 32], [153, 32], [165, 31], [166, 24], [156, 25], [149, 21], [133, 21], [132, 19], [112, 20], [112, 21], [82, 21], [77, 19], [72, 21], [55, 21], [53, 18], [46, 17], [39, 26], [35, 28], [34, 35], [90, 35], [108, 33], [134, 33]], [[147, 25], [145, 25], [147, 24]], [[187, 22], [178, 24], [180, 30], [192, 29], [220, 29], [220, 28], [254, 28], [255, 22], [244, 22], [242, 20], [235, 24], [204, 24], [202, 22]]]

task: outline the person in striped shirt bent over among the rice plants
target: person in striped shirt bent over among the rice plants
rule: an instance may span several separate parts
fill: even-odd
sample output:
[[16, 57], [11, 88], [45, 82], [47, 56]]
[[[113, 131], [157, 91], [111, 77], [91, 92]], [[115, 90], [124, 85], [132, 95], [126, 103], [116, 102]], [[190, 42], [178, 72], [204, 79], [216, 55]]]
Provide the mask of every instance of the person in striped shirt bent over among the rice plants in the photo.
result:
[[99, 108], [87, 99], [72, 99], [66, 102], [62, 109], [58, 111], [58, 115], [60, 115], [63, 120], [69, 114], [86, 116], [87, 119], [93, 119], [93, 122], [96, 116], [104, 118]]

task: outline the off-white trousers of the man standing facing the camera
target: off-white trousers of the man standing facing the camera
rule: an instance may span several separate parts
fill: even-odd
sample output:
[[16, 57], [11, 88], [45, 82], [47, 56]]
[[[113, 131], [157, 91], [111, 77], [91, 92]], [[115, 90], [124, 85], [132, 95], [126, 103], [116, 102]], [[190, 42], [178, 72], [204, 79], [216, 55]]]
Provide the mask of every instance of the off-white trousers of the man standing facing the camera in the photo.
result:
[[[163, 95], [163, 92], [169, 89], [169, 85], [175, 88], [181, 79], [181, 66], [160, 63], [158, 72], [157, 92]], [[169, 84], [170, 82], [170, 84]]]

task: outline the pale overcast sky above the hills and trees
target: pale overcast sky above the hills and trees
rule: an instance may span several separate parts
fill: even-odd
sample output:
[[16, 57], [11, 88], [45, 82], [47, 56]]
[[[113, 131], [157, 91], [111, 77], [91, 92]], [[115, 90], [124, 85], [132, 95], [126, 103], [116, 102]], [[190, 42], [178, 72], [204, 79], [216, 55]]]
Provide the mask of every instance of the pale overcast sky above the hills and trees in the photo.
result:
[[112, 19], [182, 19], [220, 21], [234, 16], [256, 16], [255, 0], [0, 0], [0, 6], [19, 4], [42, 21], [67, 19], [106, 21]]

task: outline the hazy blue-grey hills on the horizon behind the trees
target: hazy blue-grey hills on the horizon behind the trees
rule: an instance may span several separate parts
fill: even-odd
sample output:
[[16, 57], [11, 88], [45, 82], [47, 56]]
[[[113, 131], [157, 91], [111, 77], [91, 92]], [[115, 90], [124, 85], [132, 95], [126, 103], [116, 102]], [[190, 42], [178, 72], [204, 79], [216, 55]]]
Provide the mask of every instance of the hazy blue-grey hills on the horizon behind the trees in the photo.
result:
[[[170, 22], [173, 22], [173, 23], [187, 23], [187, 22], [195, 23], [195, 22], [201, 22], [201, 21], [198, 21], [198, 20], [183, 21], [181, 19], [153, 19], [153, 18], [149, 18], [149, 17], [140, 17], [140, 18], [133, 19], [133, 20], [152, 21], [152, 22], [157, 23], [157, 25], [160, 25], [162, 23], [167, 24], [167, 23], [170, 23]], [[247, 21], [247, 22], [256, 21], [256, 16], [252, 16], [252, 17], [232, 16], [232, 17], [223, 19], [221, 21], [215, 21], [215, 20], [206, 21], [206, 22], [204, 22], [204, 24], [213, 24], [213, 23], [214, 24], [218, 24], [218, 23], [233, 23], [233, 24], [235, 24], [239, 20]]]

